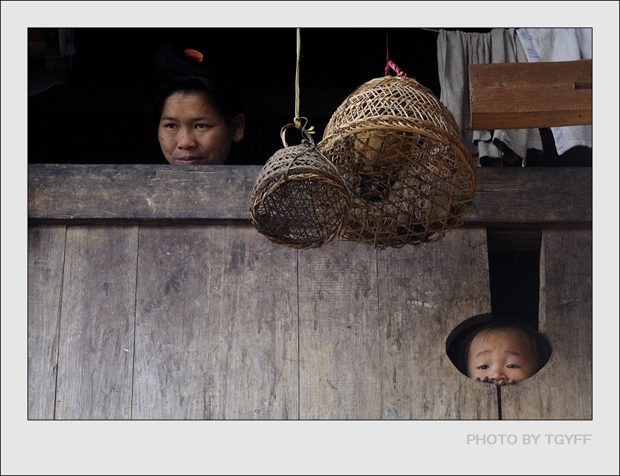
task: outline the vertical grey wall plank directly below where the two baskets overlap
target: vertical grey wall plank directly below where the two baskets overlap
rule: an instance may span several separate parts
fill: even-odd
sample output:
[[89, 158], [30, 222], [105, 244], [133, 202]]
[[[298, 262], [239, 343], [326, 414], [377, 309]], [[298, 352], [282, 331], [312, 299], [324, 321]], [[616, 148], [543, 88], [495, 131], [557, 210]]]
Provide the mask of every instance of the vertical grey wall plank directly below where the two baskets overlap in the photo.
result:
[[299, 417], [378, 420], [381, 414], [377, 258], [332, 242], [299, 251]]

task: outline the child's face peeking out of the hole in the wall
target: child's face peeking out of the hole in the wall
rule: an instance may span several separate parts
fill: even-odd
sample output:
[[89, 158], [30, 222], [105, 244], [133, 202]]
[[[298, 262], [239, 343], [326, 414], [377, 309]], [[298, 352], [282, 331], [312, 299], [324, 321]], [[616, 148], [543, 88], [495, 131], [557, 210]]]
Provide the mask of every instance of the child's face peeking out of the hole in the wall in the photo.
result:
[[536, 372], [534, 346], [521, 330], [483, 331], [471, 341], [467, 375], [497, 385], [526, 380]]

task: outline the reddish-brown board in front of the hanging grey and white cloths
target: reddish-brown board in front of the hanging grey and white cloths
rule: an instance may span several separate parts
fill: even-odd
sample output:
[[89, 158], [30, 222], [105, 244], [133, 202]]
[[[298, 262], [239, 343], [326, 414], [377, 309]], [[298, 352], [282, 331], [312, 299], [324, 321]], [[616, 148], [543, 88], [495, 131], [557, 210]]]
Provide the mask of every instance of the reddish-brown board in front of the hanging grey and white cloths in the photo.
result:
[[592, 60], [469, 65], [471, 130], [592, 124]]

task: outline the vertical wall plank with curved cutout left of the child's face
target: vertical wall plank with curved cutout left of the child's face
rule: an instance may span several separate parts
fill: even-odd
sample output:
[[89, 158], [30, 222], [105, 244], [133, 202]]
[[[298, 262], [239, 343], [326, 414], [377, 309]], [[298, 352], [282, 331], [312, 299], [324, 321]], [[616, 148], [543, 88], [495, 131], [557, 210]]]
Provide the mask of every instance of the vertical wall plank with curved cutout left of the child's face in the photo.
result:
[[484, 229], [378, 253], [383, 418], [496, 420], [495, 386], [452, 365], [446, 340], [461, 322], [490, 312]]

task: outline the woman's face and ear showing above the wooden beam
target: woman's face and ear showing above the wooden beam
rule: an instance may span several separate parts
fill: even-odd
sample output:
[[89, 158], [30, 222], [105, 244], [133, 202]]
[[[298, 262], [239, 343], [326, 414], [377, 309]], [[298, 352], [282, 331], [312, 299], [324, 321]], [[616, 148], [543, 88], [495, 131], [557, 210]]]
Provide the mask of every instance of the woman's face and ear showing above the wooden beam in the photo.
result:
[[159, 145], [173, 165], [220, 165], [231, 142], [243, 139], [244, 116], [232, 124], [199, 92], [175, 92], [163, 104], [159, 120]]

